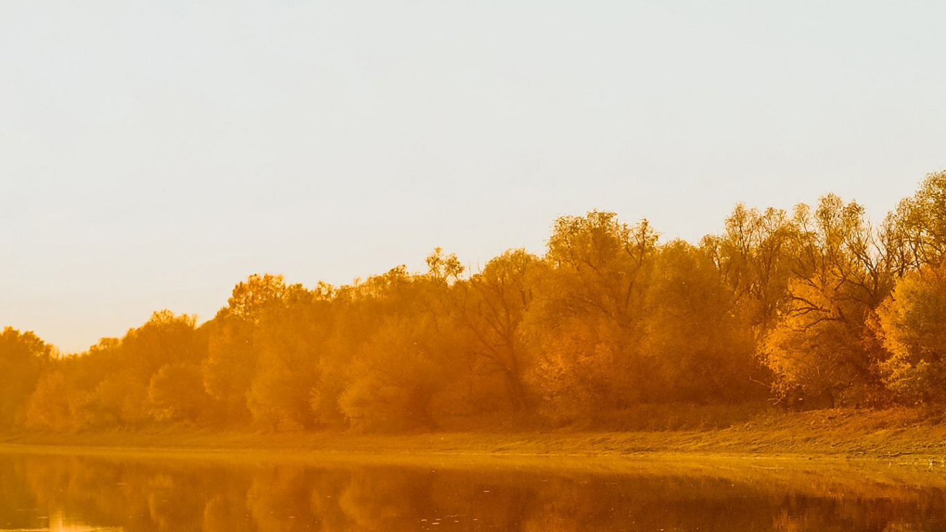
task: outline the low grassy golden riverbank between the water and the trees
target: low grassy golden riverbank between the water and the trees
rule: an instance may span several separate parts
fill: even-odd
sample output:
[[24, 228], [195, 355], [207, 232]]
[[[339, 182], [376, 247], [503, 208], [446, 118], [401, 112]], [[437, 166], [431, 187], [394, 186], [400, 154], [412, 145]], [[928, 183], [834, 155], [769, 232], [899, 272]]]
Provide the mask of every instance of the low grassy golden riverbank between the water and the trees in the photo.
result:
[[187, 428], [0, 435], [0, 451], [251, 452], [280, 455], [456, 455], [830, 458], [946, 464], [946, 420], [928, 409], [835, 409], [766, 414], [727, 428], [658, 432], [359, 434], [246, 433]]

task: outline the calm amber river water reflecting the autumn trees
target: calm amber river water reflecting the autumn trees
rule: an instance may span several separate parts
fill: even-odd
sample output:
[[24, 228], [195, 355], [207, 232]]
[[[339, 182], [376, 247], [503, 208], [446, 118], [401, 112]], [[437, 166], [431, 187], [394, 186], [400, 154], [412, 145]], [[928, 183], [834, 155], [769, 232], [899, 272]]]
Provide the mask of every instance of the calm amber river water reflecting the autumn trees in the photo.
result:
[[0, 454], [0, 530], [946, 530], [922, 475]]

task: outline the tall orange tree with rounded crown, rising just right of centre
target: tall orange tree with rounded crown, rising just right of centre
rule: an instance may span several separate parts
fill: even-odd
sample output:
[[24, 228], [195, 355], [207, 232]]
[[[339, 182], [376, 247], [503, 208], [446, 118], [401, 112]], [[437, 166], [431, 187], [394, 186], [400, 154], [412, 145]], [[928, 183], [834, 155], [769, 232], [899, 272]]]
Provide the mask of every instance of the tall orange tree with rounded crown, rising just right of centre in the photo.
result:
[[554, 417], [624, 408], [650, 395], [640, 340], [656, 250], [646, 221], [630, 226], [592, 211], [555, 222], [549, 270], [523, 327], [536, 356], [530, 381]]

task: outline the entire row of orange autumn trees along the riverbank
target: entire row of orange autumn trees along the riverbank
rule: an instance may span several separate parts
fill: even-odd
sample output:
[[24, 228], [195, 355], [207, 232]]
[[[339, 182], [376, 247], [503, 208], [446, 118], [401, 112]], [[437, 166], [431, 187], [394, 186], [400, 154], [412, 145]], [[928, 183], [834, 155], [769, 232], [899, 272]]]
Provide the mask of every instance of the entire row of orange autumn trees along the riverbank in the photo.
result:
[[[307, 289], [251, 275], [196, 326], [155, 312], [57, 356], [0, 334], [0, 427], [397, 430], [564, 424], [660, 404], [946, 402], [946, 171], [885, 220], [834, 195], [737, 205], [696, 245], [613, 213], [464, 275], [439, 248]], [[512, 422], [511, 421], [511, 422]], [[453, 424], [453, 425], [451, 425]]]

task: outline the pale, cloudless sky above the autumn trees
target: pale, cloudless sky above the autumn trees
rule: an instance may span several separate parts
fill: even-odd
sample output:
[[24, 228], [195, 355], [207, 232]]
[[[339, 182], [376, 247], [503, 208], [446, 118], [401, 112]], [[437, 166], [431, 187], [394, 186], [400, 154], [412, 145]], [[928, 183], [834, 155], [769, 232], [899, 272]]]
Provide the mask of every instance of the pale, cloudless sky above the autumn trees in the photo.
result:
[[876, 220], [946, 168], [939, 1], [6, 0], [0, 327], [63, 352], [254, 273], [440, 246], [471, 271], [591, 209], [662, 240], [738, 202]]

